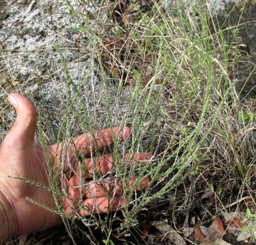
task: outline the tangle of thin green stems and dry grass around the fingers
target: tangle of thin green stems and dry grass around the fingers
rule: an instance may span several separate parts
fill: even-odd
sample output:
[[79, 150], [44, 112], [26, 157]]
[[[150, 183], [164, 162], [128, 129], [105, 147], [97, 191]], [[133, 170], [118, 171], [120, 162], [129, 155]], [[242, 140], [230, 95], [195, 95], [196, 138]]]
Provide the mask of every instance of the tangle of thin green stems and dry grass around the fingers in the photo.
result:
[[[232, 38], [227, 40], [200, 0], [189, 8], [176, 1], [168, 10], [155, 0], [78, 2], [74, 8], [67, 1], [78, 23], [75, 50], [91, 59], [102, 90], [95, 90], [90, 76], [73, 83], [63, 50], [56, 46], [65, 74], [65, 113], [57, 125], [39, 111], [38, 139], [45, 147], [45, 131], [53, 131], [56, 143], [72, 144], [80, 133], [123, 125], [131, 128], [131, 136], [89, 156], [112, 153], [112, 171], [100, 176], [95, 170], [93, 175], [102, 182], [122, 183], [124, 209], [66, 217], [63, 194], [54, 191], [55, 211], [72, 220], [65, 219], [68, 234], [76, 243], [152, 244], [163, 237], [144, 236], [146, 227], [168, 219], [192, 241], [193, 232], [184, 232], [195, 223], [208, 224], [222, 211], [255, 210], [255, 100], [239, 96], [232, 73], [241, 58], [239, 23], [230, 27]], [[134, 158], [138, 152], [150, 152], [150, 161], [120, 164], [124, 153]], [[76, 161], [86, 157], [76, 156]], [[56, 170], [49, 166], [49, 173], [56, 190]], [[135, 176], [134, 185], [128, 186]], [[137, 192], [146, 177], [148, 187]], [[86, 207], [78, 203], [78, 208]], [[157, 234], [154, 228], [150, 232]]]

